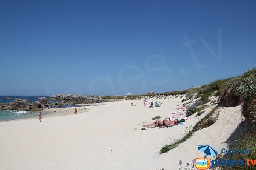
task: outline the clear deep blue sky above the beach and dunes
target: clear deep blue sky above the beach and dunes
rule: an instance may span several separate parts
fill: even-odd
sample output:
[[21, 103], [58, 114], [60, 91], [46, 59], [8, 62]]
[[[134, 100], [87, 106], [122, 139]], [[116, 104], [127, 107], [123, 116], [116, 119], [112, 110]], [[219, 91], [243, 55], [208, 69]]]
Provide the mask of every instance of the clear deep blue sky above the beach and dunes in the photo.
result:
[[0, 95], [143, 94], [242, 74], [256, 66], [255, 16], [254, 0], [0, 0]]

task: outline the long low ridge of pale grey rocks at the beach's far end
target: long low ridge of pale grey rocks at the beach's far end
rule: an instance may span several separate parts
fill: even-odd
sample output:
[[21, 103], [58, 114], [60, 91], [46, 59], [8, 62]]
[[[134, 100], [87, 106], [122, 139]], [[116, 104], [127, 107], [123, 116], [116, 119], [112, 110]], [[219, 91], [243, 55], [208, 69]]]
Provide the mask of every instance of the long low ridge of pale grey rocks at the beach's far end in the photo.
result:
[[63, 102], [73, 102], [73, 104], [89, 104], [89, 103], [102, 103], [113, 102], [110, 99], [99, 99], [98, 97], [90, 94], [89, 96], [81, 96], [75, 94], [58, 94], [52, 95], [49, 100], [61, 100]]

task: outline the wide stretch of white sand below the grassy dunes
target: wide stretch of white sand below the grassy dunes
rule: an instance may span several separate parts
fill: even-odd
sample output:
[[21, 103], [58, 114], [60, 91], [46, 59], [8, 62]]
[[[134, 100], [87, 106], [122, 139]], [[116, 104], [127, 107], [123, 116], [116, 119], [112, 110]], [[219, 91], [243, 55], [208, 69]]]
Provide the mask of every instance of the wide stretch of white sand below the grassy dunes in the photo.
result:
[[241, 106], [219, 108], [215, 124], [197, 131], [168, 153], [159, 151], [188, 133], [215, 105], [209, 105], [201, 116], [190, 116], [183, 125], [141, 130], [144, 124], [154, 122], [153, 117], [164, 119], [177, 111], [175, 107], [183, 98], [148, 99], [163, 102], [156, 108], [143, 107], [143, 99], [104, 103], [81, 107], [77, 115], [72, 111], [66, 116], [60, 116], [65, 108], [58, 108], [59, 114], [53, 117], [42, 113], [42, 123], [35, 118], [0, 122], [0, 169], [173, 170], [179, 160], [185, 164], [202, 157], [198, 145], [210, 144], [219, 152], [221, 142], [241, 123]]

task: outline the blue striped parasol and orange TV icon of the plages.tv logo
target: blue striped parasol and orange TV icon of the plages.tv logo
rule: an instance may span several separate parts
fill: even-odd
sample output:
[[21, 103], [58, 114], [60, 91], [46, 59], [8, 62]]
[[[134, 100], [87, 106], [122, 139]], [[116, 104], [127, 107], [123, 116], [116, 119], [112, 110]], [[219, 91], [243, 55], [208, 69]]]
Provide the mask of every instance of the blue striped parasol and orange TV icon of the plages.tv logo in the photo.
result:
[[207, 155], [216, 156], [218, 152], [210, 147], [210, 145], [199, 145], [198, 150], [203, 152], [204, 158], [196, 158], [195, 159], [195, 168], [198, 170], [206, 170], [210, 167], [210, 160], [206, 158]]

